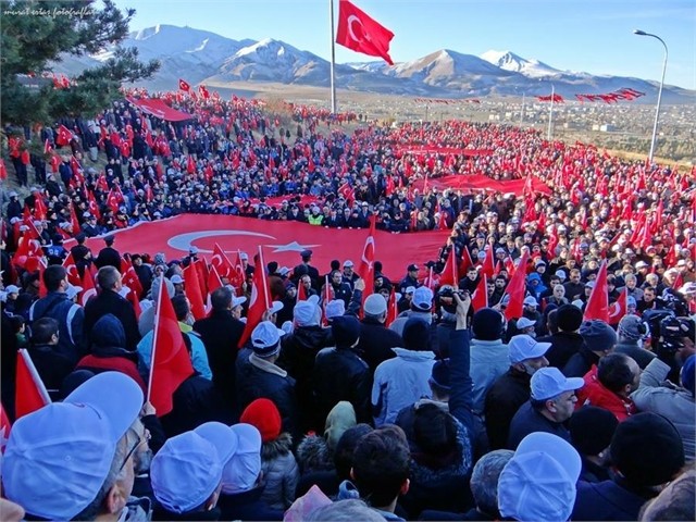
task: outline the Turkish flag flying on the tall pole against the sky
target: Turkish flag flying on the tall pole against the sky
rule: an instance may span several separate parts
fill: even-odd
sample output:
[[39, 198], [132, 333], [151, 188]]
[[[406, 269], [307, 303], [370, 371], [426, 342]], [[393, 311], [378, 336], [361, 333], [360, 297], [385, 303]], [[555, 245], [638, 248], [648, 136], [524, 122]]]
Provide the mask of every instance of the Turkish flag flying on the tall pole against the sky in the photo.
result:
[[389, 42], [394, 33], [368, 16], [363, 11], [340, 0], [338, 3], [338, 30], [336, 44], [370, 57], [380, 57], [394, 65], [389, 57]]

